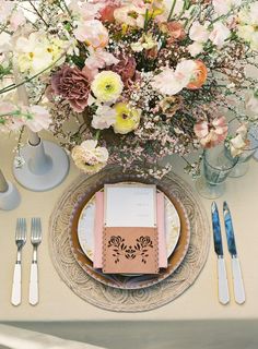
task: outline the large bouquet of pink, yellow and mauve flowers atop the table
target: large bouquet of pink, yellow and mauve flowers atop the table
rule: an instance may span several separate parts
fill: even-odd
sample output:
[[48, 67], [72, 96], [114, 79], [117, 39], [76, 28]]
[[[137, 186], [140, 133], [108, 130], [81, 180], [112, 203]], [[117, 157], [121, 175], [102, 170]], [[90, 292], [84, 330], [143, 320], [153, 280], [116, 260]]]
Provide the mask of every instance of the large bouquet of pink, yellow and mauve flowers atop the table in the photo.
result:
[[0, 21], [1, 131], [49, 129], [87, 173], [148, 164], [162, 177], [172, 168], [162, 158], [216, 146], [235, 118], [233, 155], [246, 145], [258, 1], [0, 0]]

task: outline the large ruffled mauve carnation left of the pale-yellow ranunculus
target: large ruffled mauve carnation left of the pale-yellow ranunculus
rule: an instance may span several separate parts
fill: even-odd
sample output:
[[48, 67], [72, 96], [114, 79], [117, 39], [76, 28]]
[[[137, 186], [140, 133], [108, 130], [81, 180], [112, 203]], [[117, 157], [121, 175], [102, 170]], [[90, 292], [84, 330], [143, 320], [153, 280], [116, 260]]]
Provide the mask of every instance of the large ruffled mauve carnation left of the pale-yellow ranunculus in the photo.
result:
[[69, 100], [70, 106], [82, 112], [87, 106], [90, 84], [85, 74], [77, 67], [63, 65], [51, 77], [51, 87], [55, 95]]

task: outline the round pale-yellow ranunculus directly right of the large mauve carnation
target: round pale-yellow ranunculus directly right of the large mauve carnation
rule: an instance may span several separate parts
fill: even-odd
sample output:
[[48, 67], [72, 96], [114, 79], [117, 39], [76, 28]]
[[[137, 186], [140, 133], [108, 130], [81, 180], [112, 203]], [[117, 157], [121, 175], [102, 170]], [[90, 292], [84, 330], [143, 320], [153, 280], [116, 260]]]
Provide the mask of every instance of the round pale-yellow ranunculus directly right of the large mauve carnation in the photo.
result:
[[116, 101], [120, 96], [124, 84], [120, 75], [113, 71], [98, 73], [92, 82], [92, 92], [99, 101]]

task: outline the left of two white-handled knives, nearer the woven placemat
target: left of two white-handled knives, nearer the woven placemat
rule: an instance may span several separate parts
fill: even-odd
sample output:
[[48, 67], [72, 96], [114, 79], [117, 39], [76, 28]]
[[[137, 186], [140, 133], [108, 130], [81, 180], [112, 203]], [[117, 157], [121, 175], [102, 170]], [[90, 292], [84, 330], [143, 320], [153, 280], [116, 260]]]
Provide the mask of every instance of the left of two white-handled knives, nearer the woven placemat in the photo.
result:
[[222, 304], [226, 304], [230, 302], [230, 292], [222, 246], [220, 216], [215, 202], [213, 202], [211, 205], [211, 216], [213, 227], [214, 250], [218, 255], [219, 300]]

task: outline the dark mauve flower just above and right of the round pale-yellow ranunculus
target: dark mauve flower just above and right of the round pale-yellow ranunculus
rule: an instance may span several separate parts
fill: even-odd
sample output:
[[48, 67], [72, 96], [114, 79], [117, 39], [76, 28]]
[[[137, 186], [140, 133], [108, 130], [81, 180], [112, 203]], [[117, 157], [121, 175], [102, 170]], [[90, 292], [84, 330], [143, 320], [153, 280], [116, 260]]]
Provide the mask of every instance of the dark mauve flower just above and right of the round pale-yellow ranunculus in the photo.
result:
[[121, 80], [126, 86], [136, 74], [137, 62], [133, 57], [121, 56], [119, 62], [112, 68], [114, 72], [121, 76]]

